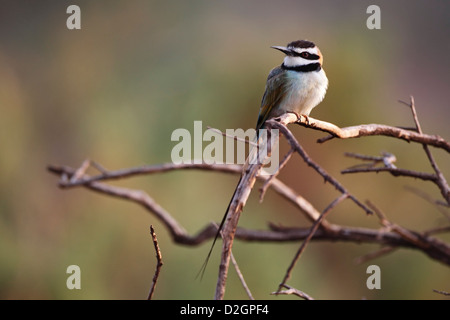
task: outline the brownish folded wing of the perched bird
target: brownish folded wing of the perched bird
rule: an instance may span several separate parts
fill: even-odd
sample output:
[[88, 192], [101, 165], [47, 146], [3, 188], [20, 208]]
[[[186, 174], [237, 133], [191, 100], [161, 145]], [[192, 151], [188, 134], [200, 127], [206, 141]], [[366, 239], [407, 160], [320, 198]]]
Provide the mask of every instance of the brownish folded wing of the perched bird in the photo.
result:
[[262, 129], [264, 122], [270, 117], [272, 110], [286, 95], [283, 81], [284, 70], [281, 67], [276, 67], [270, 71], [266, 82], [266, 91], [264, 92], [261, 108], [259, 109], [258, 122], [256, 124], [256, 132]]

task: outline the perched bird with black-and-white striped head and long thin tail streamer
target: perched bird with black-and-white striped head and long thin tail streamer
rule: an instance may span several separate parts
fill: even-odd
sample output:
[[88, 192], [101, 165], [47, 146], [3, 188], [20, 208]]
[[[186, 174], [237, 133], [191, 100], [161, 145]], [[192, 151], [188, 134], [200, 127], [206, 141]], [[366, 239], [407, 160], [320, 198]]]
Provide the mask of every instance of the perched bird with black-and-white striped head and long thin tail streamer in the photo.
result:
[[[292, 112], [297, 117], [308, 116], [325, 97], [328, 78], [323, 69], [323, 56], [311, 41], [296, 40], [287, 46], [272, 46], [285, 54], [283, 63], [273, 68], [267, 77], [264, 95], [256, 123], [256, 137], [265, 128], [268, 119]], [[238, 182], [242, 181], [242, 175]], [[236, 194], [235, 189], [225, 215], [219, 225], [214, 241], [202, 266], [202, 275], [213, 251], [217, 238], [225, 224], [230, 205]]]

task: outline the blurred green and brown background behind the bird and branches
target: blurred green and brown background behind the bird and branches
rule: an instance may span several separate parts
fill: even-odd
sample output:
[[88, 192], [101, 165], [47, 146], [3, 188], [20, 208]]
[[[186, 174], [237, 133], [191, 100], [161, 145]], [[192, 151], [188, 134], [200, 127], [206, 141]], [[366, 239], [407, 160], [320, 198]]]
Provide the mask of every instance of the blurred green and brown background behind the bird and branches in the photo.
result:
[[[81, 8], [81, 30], [68, 30], [66, 9]], [[366, 9], [381, 8], [381, 30]], [[413, 95], [423, 130], [450, 139], [450, 2], [448, 1], [2, 1], [0, 4], [0, 298], [145, 299], [156, 261], [149, 226], [162, 250], [154, 299], [211, 299], [220, 245], [196, 279], [211, 242], [186, 247], [141, 207], [86, 189], [60, 190], [49, 164], [92, 159], [114, 170], [170, 162], [177, 128], [195, 120], [225, 130], [252, 128], [267, 74], [292, 40], [314, 41], [330, 86], [311, 116], [339, 126], [412, 126], [398, 100]], [[423, 231], [448, 225], [437, 208], [405, 187], [440, 199], [431, 183], [387, 174], [341, 175], [356, 164], [344, 152], [397, 156], [401, 168], [431, 172], [417, 144], [387, 137], [319, 145], [318, 132], [291, 127], [311, 157], [359, 199], [394, 223]], [[284, 150], [282, 148], [282, 150]], [[448, 154], [433, 149], [450, 178]], [[301, 159], [280, 179], [323, 210], [338, 194]], [[116, 181], [148, 192], [190, 234], [220, 221], [238, 177], [171, 172]], [[269, 191], [254, 192], [240, 226], [307, 226]], [[379, 228], [350, 201], [334, 223]], [[440, 236], [450, 241], [449, 236]], [[234, 254], [257, 299], [277, 289], [299, 243], [235, 242]], [[312, 243], [289, 284], [317, 299], [444, 299], [447, 266], [407, 249], [364, 264], [379, 247]], [[81, 290], [68, 290], [66, 269], [81, 268]], [[367, 266], [381, 268], [381, 290], [366, 287]], [[246, 299], [230, 268], [226, 298]]]

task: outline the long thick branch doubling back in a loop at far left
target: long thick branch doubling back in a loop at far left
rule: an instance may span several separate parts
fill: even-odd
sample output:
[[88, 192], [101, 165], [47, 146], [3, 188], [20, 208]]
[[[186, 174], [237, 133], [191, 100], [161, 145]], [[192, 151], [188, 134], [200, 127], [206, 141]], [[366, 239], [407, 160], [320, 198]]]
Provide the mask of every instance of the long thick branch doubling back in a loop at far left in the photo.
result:
[[[166, 165], [158, 166], [159, 169], [164, 170], [166, 172], [168, 167]], [[140, 171], [139, 168], [143, 170]], [[146, 167], [132, 168], [130, 170], [121, 170], [125, 176], [129, 176], [130, 172], [133, 174], [148, 174], [148, 172], [160, 172], [154, 170], [146, 170]], [[177, 169], [176, 169], [177, 168]], [[224, 167], [222, 165], [203, 165], [197, 164], [193, 166], [173, 166], [172, 170], [178, 169], [199, 169], [199, 170], [211, 170], [218, 172], [227, 172], [227, 173], [240, 173], [240, 166], [230, 166], [230, 170], [224, 171]], [[49, 166], [49, 171], [60, 176], [60, 177], [71, 177], [73, 173], [76, 171], [75, 168], [71, 168], [68, 166]], [[138, 173], [140, 172], [140, 173]], [[85, 175], [83, 176], [84, 181], [91, 181], [91, 177]], [[111, 179], [119, 179], [119, 174], [113, 172]], [[264, 179], [264, 177], [259, 177]], [[108, 180], [107, 177], [103, 177], [103, 180]], [[111, 186], [101, 182], [89, 182], [84, 184], [76, 184], [77, 186], [81, 186], [101, 194], [105, 194], [108, 196], [117, 197], [119, 199], [127, 200], [135, 202], [150, 213], [152, 213], [158, 220], [160, 220], [167, 228], [169, 233], [172, 236], [172, 239], [175, 243], [189, 246], [199, 245], [216, 235], [217, 225], [216, 224], [208, 224], [202, 230], [200, 230], [196, 235], [189, 235], [185, 229], [179, 225], [179, 223], [161, 206], [157, 205], [155, 201], [145, 192], [140, 190], [131, 190], [127, 188]], [[65, 188], [65, 187], [62, 187]], [[315, 217], [316, 220], [320, 213], [315, 211], [316, 209], [306, 201], [304, 198], [298, 196], [291, 188], [284, 185], [278, 179], [274, 179], [271, 188], [278, 188], [276, 190], [280, 195], [282, 195], [285, 199], [291, 201], [296, 204], [300, 211], [307, 210], [307, 212], [311, 213], [312, 216]], [[317, 216], [316, 216], [317, 213]], [[314, 221], [313, 220], [313, 221]], [[324, 227], [324, 225], [327, 227]], [[355, 228], [348, 226], [338, 226], [334, 224], [328, 223], [326, 220], [322, 221], [322, 228], [319, 228], [313, 235], [313, 241], [343, 241], [343, 242], [354, 242], [354, 243], [376, 243], [386, 246], [394, 246], [394, 247], [403, 247], [410, 249], [417, 249], [422, 251], [430, 258], [435, 259], [441, 263], [450, 266], [450, 245], [442, 242], [439, 239], [430, 237], [428, 235], [424, 235], [424, 239], [428, 242], [428, 248], [426, 250], [422, 248], [414, 247], [410, 242], [405, 241], [402, 237], [394, 232], [383, 231], [380, 232], [378, 230], [372, 230], [367, 228]], [[280, 226], [276, 226], [274, 224], [269, 225], [270, 230], [249, 230], [244, 228], [237, 228], [236, 238], [242, 241], [258, 241], [258, 242], [292, 242], [292, 241], [302, 241], [308, 237], [310, 234], [310, 228], [284, 228]]]

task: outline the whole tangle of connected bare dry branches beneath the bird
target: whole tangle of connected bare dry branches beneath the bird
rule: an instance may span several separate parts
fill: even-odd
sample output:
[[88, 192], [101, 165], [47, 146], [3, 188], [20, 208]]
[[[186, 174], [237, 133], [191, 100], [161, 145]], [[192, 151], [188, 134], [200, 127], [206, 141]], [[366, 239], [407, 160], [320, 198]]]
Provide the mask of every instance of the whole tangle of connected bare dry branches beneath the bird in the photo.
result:
[[[439, 170], [434, 158], [432, 157], [429, 147], [434, 146], [437, 148], [442, 148], [447, 152], [450, 152], [450, 144], [443, 140], [439, 136], [431, 136], [423, 134], [420, 124], [417, 119], [417, 114], [415, 113], [414, 101], [411, 100], [410, 106], [413, 117], [415, 120], [416, 128], [405, 129], [389, 127], [385, 125], [360, 125], [347, 128], [338, 128], [337, 126], [330, 124], [328, 122], [316, 120], [313, 118], [297, 119], [294, 114], [286, 114], [278, 119], [268, 120], [267, 127], [272, 129], [278, 129], [287, 139], [291, 146], [291, 151], [285, 156], [282, 161], [282, 165], [279, 170], [291, 159], [293, 153], [298, 153], [306, 164], [311, 166], [318, 174], [320, 174], [326, 182], [333, 185], [340, 193], [341, 196], [338, 197], [332, 204], [330, 204], [322, 213], [320, 213], [310, 202], [304, 199], [301, 195], [295, 192], [293, 189], [285, 185], [283, 182], [277, 179], [277, 173], [273, 176], [260, 175], [260, 171], [264, 170], [261, 164], [251, 164], [245, 166], [238, 165], [228, 165], [228, 164], [173, 164], [166, 163], [161, 165], [152, 166], [142, 166], [130, 169], [122, 169], [116, 171], [106, 170], [103, 166], [91, 162], [84, 161], [79, 168], [71, 168], [67, 166], [49, 166], [48, 170], [60, 177], [59, 186], [63, 189], [69, 189], [73, 187], [84, 187], [90, 190], [106, 194], [109, 196], [117, 197], [120, 199], [125, 199], [128, 201], [135, 202], [143, 206], [146, 210], [151, 212], [157, 219], [159, 219], [167, 230], [170, 232], [173, 240], [176, 243], [184, 245], [198, 245], [208, 239], [213, 238], [217, 234], [218, 227], [215, 224], [209, 224], [205, 226], [198, 234], [189, 235], [185, 229], [176, 221], [172, 215], [167, 212], [163, 207], [156, 203], [147, 193], [141, 190], [133, 190], [128, 188], [122, 188], [118, 186], [112, 186], [106, 182], [123, 179], [136, 175], [146, 175], [155, 173], [164, 173], [173, 170], [208, 170], [214, 172], [223, 173], [239, 173], [241, 174], [241, 179], [238, 187], [236, 188], [235, 194], [230, 203], [230, 207], [227, 210], [226, 220], [224, 224], [223, 232], [223, 246], [221, 263], [219, 267], [219, 276], [216, 286], [216, 299], [222, 299], [225, 293], [225, 284], [227, 279], [227, 272], [230, 259], [233, 260], [231, 254], [231, 248], [233, 245], [234, 238], [241, 239], [244, 241], [303, 241], [297, 255], [295, 256], [291, 266], [286, 272], [285, 279], [281, 283], [278, 292], [283, 293], [281, 288], [288, 288], [290, 294], [295, 294], [293, 288], [290, 288], [285, 284], [287, 279], [290, 277], [290, 271], [294, 267], [296, 261], [300, 257], [301, 253], [304, 251], [306, 245], [310, 241], [348, 241], [354, 243], [376, 243], [383, 246], [378, 253], [369, 254], [366, 258], [374, 258], [380, 254], [384, 254], [394, 248], [411, 248], [421, 251], [428, 255], [429, 257], [440, 261], [446, 265], [450, 265], [450, 246], [449, 244], [431, 237], [431, 234], [435, 232], [433, 230], [426, 232], [417, 232], [408, 230], [399, 225], [393, 224], [388, 221], [385, 215], [374, 205], [365, 205], [354, 197], [343, 185], [341, 185], [335, 178], [330, 176], [319, 164], [313, 161], [308, 154], [305, 152], [303, 147], [297, 141], [297, 139], [292, 135], [289, 129], [286, 127], [289, 123], [299, 123], [302, 126], [313, 128], [316, 130], [325, 131], [331, 133], [331, 136], [321, 139], [319, 142], [328, 141], [334, 137], [346, 139], [363, 137], [369, 135], [384, 135], [392, 136], [395, 138], [403, 139], [406, 141], [412, 141], [421, 143], [424, 146], [424, 150], [427, 154], [428, 160], [434, 170], [433, 174], [420, 173], [411, 170], [398, 169], [395, 167], [395, 156], [391, 154], [383, 154], [381, 157], [363, 156], [353, 154], [352, 156], [358, 158], [362, 161], [371, 161], [364, 165], [355, 166], [349, 168], [352, 173], [356, 172], [371, 172], [371, 171], [388, 171], [395, 176], [410, 176], [415, 178], [421, 178], [424, 180], [429, 180], [436, 183], [444, 199], [447, 201], [447, 205], [450, 205], [448, 184]], [[262, 159], [263, 160], [263, 159]], [[87, 174], [89, 167], [95, 168], [99, 174], [90, 176]], [[350, 173], [345, 172], [344, 173]], [[269, 230], [250, 230], [244, 228], [238, 228], [238, 220], [240, 214], [245, 206], [245, 203], [250, 195], [251, 190], [255, 184], [255, 181], [259, 179], [263, 182], [261, 188], [261, 199], [264, 196], [268, 188], [276, 191], [283, 198], [287, 199], [293, 203], [300, 212], [309, 219], [312, 223], [311, 227], [306, 228], [283, 228], [279, 226], [269, 225]], [[325, 216], [329, 214], [331, 209], [340, 201], [349, 198], [357, 206], [362, 208], [366, 213], [372, 213], [375, 211], [380, 218], [382, 225], [384, 226], [381, 230], [372, 230], [367, 228], [355, 228], [347, 227], [341, 225], [331, 224], [325, 220]], [[437, 201], [436, 201], [437, 203]], [[445, 227], [440, 228], [440, 231], [447, 230]], [[388, 249], [386, 249], [388, 248]], [[239, 269], [237, 268], [237, 271]], [[239, 271], [238, 271], [239, 274]], [[243, 280], [243, 277], [242, 277]], [[245, 283], [245, 281], [244, 281]], [[244, 285], [244, 288], [246, 285]], [[291, 290], [292, 289], [292, 290]], [[251, 297], [251, 294], [249, 295]]]

